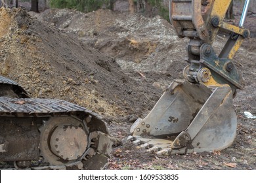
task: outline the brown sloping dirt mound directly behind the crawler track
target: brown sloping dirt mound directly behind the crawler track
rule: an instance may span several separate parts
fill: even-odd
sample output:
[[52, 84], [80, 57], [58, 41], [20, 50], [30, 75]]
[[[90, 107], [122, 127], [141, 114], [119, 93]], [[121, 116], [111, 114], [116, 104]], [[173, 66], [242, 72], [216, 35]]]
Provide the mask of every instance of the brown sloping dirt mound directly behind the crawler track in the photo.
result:
[[32, 97], [64, 99], [116, 120], [140, 114], [156, 102], [147, 93], [160, 89], [139, 86], [115, 59], [38, 22], [25, 10], [2, 8], [0, 13], [0, 74], [19, 82]]

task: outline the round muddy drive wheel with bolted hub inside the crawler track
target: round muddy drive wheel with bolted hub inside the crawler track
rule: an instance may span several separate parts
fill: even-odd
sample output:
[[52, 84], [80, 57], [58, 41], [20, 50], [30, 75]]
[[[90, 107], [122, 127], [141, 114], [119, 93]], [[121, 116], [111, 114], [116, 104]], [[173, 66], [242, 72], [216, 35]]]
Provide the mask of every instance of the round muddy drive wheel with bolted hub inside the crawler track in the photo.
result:
[[77, 165], [95, 155], [98, 134], [90, 133], [87, 125], [73, 117], [52, 117], [40, 128], [40, 150], [45, 163]]

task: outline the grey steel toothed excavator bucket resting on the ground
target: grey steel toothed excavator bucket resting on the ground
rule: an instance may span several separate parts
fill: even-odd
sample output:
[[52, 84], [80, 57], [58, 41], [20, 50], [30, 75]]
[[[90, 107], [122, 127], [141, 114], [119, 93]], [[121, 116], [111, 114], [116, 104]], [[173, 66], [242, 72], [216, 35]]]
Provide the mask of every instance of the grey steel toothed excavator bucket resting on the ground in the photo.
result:
[[229, 86], [209, 88], [175, 80], [128, 137], [156, 154], [186, 154], [223, 150], [236, 136], [236, 114]]

